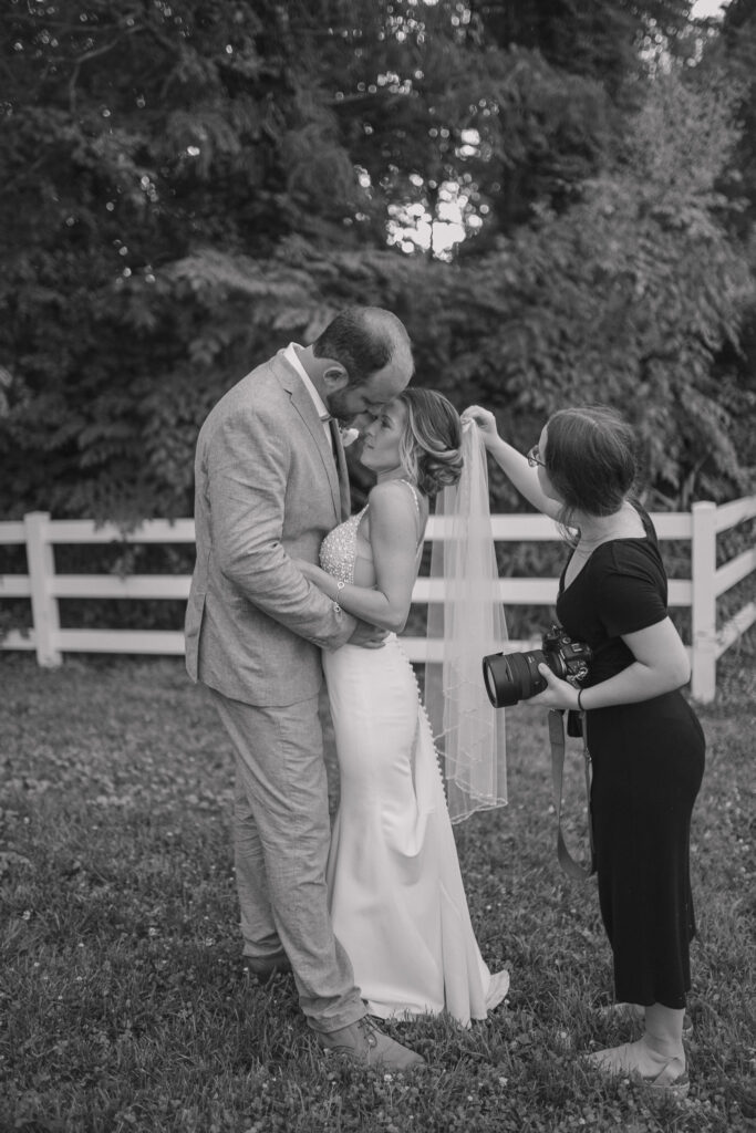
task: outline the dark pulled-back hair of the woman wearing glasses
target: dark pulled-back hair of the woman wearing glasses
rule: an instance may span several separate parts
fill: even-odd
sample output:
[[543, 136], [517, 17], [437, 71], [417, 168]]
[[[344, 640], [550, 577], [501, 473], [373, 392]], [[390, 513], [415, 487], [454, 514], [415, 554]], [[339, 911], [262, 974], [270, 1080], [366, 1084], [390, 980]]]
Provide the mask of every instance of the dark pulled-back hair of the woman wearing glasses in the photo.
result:
[[576, 511], [612, 516], [632, 493], [638, 465], [628, 423], [608, 406], [560, 409], [546, 421], [543, 454], [549, 479], [563, 501], [562, 523]]

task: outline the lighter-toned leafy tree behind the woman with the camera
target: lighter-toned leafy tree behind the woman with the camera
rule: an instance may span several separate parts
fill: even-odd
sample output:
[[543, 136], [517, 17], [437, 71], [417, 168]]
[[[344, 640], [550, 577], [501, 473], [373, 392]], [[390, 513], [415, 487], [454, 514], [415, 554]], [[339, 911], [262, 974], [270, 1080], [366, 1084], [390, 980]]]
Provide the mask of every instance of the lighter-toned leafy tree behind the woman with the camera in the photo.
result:
[[739, 137], [737, 96], [660, 77], [617, 165], [563, 214], [501, 240], [464, 303], [452, 308], [450, 296], [470, 392], [482, 386], [517, 429], [521, 410], [543, 417], [566, 397], [615, 404], [639, 426], [660, 503], [688, 506], [693, 495], [749, 485], [712, 375], [754, 295], [716, 219], [716, 181]]

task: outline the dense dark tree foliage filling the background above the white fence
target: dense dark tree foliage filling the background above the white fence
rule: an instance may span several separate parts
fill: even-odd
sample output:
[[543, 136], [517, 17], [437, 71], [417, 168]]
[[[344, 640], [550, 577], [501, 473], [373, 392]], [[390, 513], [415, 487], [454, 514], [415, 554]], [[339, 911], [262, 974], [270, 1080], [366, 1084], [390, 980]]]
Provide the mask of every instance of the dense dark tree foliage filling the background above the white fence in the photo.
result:
[[0, 512], [189, 513], [210, 406], [352, 301], [516, 441], [609, 400], [661, 496], [741, 491], [753, 2], [696, 67], [688, 7], [9, 0]]

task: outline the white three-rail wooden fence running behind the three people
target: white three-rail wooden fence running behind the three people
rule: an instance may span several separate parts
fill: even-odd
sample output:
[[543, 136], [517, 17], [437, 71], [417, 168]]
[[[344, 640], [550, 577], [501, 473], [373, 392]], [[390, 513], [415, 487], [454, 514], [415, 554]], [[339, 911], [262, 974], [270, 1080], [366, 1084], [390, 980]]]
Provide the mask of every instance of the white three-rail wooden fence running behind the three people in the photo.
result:
[[[670, 580], [672, 606], [691, 607], [693, 696], [703, 702], [716, 691], [716, 662], [756, 620], [756, 603], [746, 603], [717, 629], [716, 599], [756, 569], [756, 546], [717, 569], [716, 536], [756, 516], [756, 495], [716, 506], [695, 503], [690, 512], [660, 512], [652, 518], [661, 539], [691, 542], [690, 579]], [[544, 542], [559, 538], [554, 523], [543, 516], [494, 516], [498, 542]], [[443, 520], [432, 518], [426, 539], [444, 538]], [[170, 630], [61, 629], [60, 598], [178, 598], [189, 594], [188, 576], [169, 574], [57, 574], [57, 544], [194, 543], [194, 521], [154, 519], [124, 537], [118, 528], [96, 527], [92, 520], [53, 520], [46, 512], [32, 512], [20, 522], [0, 523], [0, 544], [26, 546], [26, 574], [0, 574], [0, 602], [28, 598], [32, 629], [12, 631], [0, 639], [2, 649], [34, 649], [37, 663], [56, 666], [63, 653], [182, 654], [184, 634]], [[413, 600], [428, 603], [442, 596], [440, 580], [419, 578]], [[501, 599], [506, 606], [553, 606], [554, 578], [503, 578]], [[544, 617], [544, 622], [546, 619]], [[434, 639], [404, 639], [407, 655], [417, 663], [441, 661]], [[533, 641], [510, 641], [508, 649], [532, 648]]]

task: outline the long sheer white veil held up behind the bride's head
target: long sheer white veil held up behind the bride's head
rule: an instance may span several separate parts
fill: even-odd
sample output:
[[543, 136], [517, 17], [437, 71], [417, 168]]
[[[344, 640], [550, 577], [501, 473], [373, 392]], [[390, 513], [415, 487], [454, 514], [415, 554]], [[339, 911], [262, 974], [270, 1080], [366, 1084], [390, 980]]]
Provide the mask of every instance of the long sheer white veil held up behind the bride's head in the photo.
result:
[[[443, 640], [443, 663], [426, 666], [425, 704], [444, 760], [449, 813], [462, 821], [507, 802], [504, 714], [483, 683], [485, 654], [507, 640], [489, 506], [489, 474], [475, 421], [462, 426], [459, 483], [436, 497], [443, 538], [433, 540], [428, 638]], [[440, 591], [433, 593], [434, 587]]]

